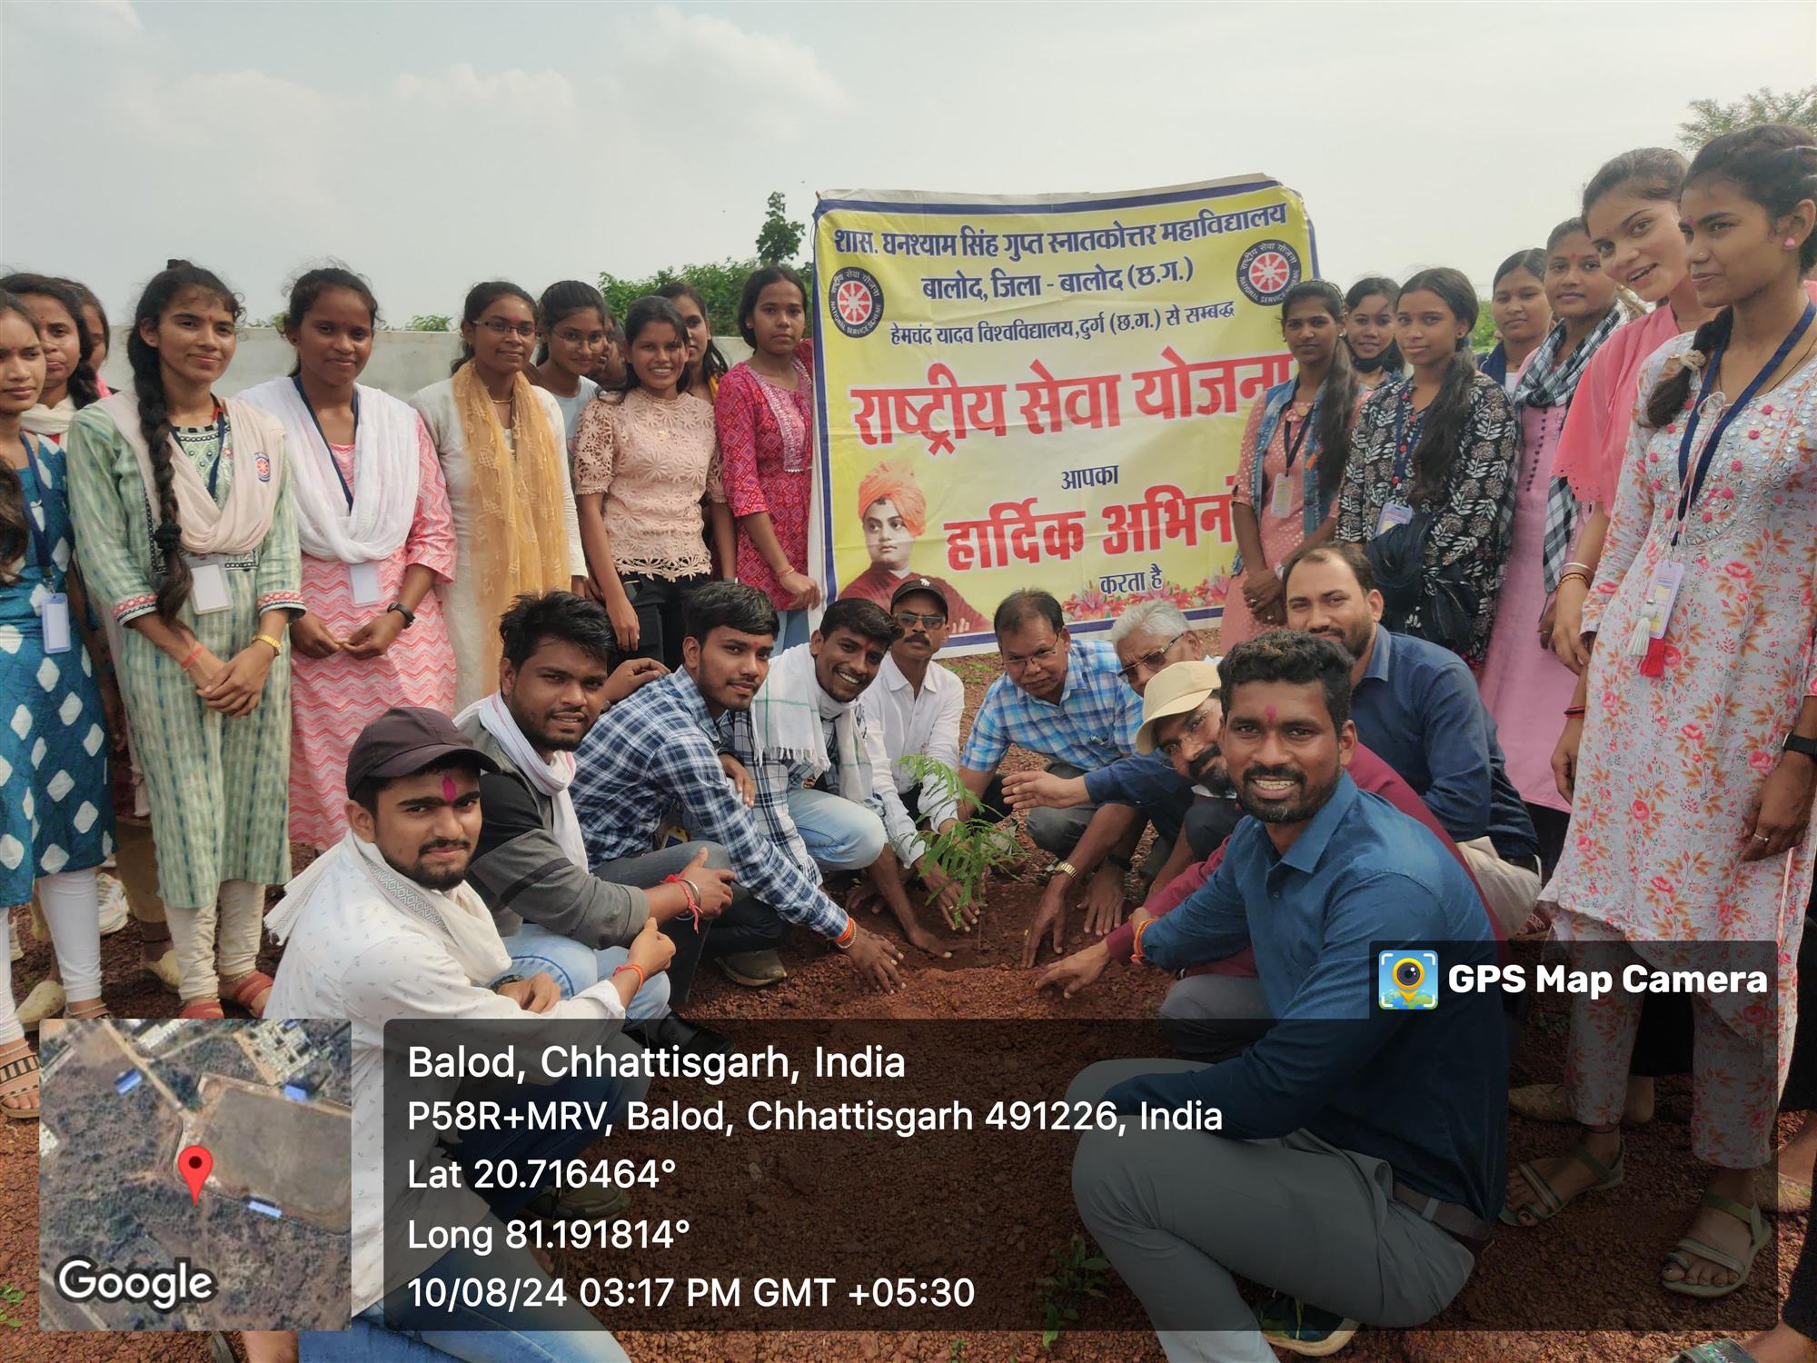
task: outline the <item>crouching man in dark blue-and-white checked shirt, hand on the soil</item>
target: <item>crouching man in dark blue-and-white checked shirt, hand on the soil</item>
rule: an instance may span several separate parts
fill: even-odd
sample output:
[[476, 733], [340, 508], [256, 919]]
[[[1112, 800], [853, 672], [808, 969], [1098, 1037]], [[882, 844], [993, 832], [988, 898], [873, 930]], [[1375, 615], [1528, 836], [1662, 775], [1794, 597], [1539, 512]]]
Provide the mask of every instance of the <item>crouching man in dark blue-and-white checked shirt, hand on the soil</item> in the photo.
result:
[[901, 952], [827, 898], [796, 854], [787, 792], [758, 783], [747, 807], [720, 765], [750, 752], [750, 701], [769, 674], [776, 609], [736, 582], [701, 587], [683, 616], [681, 671], [607, 711], [574, 754], [574, 811], [594, 865], [647, 852], [665, 821], [720, 843], [740, 894], [712, 923], [705, 956], [736, 983], [785, 976], [776, 943], [790, 925], [839, 947], [878, 989], [896, 989]]

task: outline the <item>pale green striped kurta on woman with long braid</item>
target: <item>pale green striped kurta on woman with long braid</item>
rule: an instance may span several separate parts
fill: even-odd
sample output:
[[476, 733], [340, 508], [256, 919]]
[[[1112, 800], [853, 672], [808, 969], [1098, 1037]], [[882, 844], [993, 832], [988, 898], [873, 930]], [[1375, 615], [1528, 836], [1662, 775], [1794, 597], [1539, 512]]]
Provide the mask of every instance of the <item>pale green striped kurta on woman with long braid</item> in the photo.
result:
[[[276, 422], [273, 442], [280, 442]], [[233, 443], [233, 431], [227, 434]], [[204, 482], [218, 451], [214, 427], [180, 429], [182, 456]], [[223, 880], [280, 885], [291, 878], [287, 789], [291, 769], [291, 652], [271, 663], [258, 707], [238, 720], [211, 711], [194, 683], [129, 622], [156, 611], [164, 569], [153, 542], [153, 502], [131, 445], [100, 407], [69, 427], [69, 505], [82, 574], [96, 611], [120, 625], [114, 669], [145, 774], [158, 849], [158, 894], [167, 905], [213, 905]], [[220, 462], [214, 489], [227, 500], [238, 460]], [[271, 531], [256, 552], [225, 563], [229, 609], [178, 620], [222, 662], [253, 643], [265, 611], [302, 611], [296, 514], [283, 465]], [[154, 494], [153, 494], [154, 496]], [[263, 647], [263, 645], [258, 645]]]

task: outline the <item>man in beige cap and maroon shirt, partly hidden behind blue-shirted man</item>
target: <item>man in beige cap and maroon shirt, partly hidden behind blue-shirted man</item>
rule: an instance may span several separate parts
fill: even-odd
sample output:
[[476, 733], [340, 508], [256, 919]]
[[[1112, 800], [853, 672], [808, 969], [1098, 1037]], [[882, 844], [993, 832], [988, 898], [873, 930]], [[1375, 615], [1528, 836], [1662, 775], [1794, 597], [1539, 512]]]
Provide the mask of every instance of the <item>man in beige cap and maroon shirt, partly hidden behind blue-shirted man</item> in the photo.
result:
[[[1159, 754], [1185, 780], [1201, 785], [1226, 785], [1228, 772], [1217, 745], [1221, 731], [1223, 707], [1219, 703], [1217, 665], [1208, 662], [1174, 663], [1157, 672], [1147, 685], [1143, 723], [1136, 731], [1136, 751]], [[1414, 787], [1395, 774], [1394, 767], [1357, 743], [1345, 771], [1359, 791], [1381, 796], [1410, 820], [1421, 823], [1445, 843], [1465, 874], [1470, 874], [1470, 865], [1457, 851], [1457, 843], [1450, 840], [1426, 803], [1414, 794]], [[1226, 841], [1219, 841], [1203, 861], [1187, 867], [1165, 885], [1156, 883], [1154, 894], [1130, 921], [1117, 927], [1103, 941], [1050, 965], [1036, 987], [1056, 985], [1067, 998], [1072, 998], [1081, 989], [1090, 987], [1112, 961], [1134, 961], [1136, 929], [1150, 918], [1172, 912], [1210, 880], [1225, 860], [1226, 845]], [[1499, 923], [1486, 905], [1483, 914], [1501, 938]], [[1188, 950], [1188, 954], [1192, 952]], [[1188, 1060], [1228, 1060], [1261, 1038], [1272, 1021], [1268, 1000], [1256, 978], [1256, 952], [1243, 949], [1225, 958], [1210, 954], [1196, 958], [1181, 974], [1179, 983], [1168, 989], [1167, 998], [1161, 1000], [1161, 1023], [1174, 1047]]]

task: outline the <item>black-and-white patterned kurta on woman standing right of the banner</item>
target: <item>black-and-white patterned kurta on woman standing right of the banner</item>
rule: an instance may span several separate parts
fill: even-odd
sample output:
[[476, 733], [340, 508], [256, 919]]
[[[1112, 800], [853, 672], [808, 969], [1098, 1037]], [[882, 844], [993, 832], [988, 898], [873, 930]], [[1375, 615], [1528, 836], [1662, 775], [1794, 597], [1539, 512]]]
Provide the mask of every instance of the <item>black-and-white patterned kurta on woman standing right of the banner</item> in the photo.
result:
[[[1352, 543], [1374, 540], [1381, 509], [1390, 502], [1406, 502], [1412, 494], [1412, 467], [1405, 482], [1395, 485], [1395, 411], [1403, 396], [1412, 393], [1412, 376], [1383, 383], [1363, 403], [1352, 434], [1345, 487], [1337, 494], [1337, 540]], [[1423, 416], [1425, 413], [1415, 413], [1403, 427], [1408, 463], [1419, 447]], [[1470, 645], [1459, 651], [1472, 667], [1481, 665], [1483, 654], [1488, 652], [1488, 636], [1495, 623], [1495, 594], [1508, 562], [1515, 443], [1508, 394], [1494, 378], [1474, 374], [1470, 414], [1465, 420], [1459, 449], [1452, 456], [1450, 476], [1437, 498], [1414, 507], [1415, 512], [1434, 512], [1432, 532], [1426, 538], [1426, 567], [1461, 565], [1463, 582], [1477, 596]], [[1421, 632], [1419, 614], [1415, 607], [1403, 632]]]

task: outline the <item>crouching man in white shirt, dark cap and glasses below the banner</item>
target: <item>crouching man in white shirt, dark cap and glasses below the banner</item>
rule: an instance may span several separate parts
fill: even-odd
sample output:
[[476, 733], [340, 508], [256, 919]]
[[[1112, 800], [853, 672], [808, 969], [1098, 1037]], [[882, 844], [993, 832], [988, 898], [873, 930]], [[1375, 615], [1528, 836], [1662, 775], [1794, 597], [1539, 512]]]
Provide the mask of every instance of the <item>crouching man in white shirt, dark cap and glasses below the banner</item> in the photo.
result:
[[[958, 774], [965, 683], [934, 662], [952, 631], [947, 592], [936, 578], [903, 578], [890, 598], [890, 616], [901, 634], [878, 667], [878, 680], [865, 692], [865, 709], [881, 729], [883, 756], [910, 827], [889, 829], [889, 845], [865, 871], [865, 881], [847, 907], [858, 909], [881, 898], [896, 912], [910, 941], [936, 956], [952, 956], [914, 918], [903, 892], [903, 872], [910, 871], [927, 887], [930, 907], [947, 921], [958, 914], [961, 930], [970, 932], [978, 921], [978, 905], [959, 905], [958, 881], [939, 869], [914, 836], [914, 825], [945, 832], [958, 821], [959, 811], [945, 791], [910, 771], [907, 758], [930, 758]], [[1008, 818], [1001, 778], [990, 780], [978, 814], [992, 821]]]

